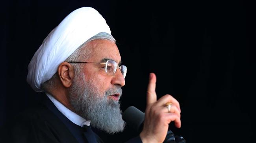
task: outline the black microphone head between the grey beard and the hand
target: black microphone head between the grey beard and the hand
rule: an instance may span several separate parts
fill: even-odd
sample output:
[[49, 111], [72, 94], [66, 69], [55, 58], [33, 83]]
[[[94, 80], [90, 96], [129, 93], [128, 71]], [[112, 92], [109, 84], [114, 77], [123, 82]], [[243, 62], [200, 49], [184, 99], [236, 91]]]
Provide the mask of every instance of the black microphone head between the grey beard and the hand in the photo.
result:
[[143, 127], [145, 113], [134, 106], [130, 106], [124, 111], [122, 118], [130, 127], [140, 132]]

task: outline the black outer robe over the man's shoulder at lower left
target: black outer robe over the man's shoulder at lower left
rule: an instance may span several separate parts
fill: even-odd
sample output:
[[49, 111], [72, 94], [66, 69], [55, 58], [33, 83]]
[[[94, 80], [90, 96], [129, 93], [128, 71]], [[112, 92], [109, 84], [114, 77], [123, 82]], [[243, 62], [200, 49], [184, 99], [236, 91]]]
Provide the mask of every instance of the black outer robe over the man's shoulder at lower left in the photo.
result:
[[[70, 131], [47, 107], [39, 105], [24, 110], [1, 128], [0, 142], [57, 143], [61, 134]], [[64, 141], [65, 142], [65, 141]]]

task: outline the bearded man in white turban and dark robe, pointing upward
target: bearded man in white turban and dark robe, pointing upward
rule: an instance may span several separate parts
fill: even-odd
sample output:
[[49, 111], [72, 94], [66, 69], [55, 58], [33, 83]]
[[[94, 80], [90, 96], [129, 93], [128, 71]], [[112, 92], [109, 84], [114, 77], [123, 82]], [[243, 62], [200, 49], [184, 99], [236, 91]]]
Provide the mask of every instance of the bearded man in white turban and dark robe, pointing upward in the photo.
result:
[[[70, 13], [50, 34], [28, 65], [27, 81], [46, 94], [43, 105], [25, 112], [7, 134], [8, 142], [103, 142], [91, 127], [113, 134], [124, 130], [119, 105], [127, 68], [104, 18], [91, 7]], [[142, 132], [129, 143], [161, 143], [168, 126], [181, 126], [172, 96], [156, 100], [150, 74]], [[171, 103], [168, 109], [166, 103]]]

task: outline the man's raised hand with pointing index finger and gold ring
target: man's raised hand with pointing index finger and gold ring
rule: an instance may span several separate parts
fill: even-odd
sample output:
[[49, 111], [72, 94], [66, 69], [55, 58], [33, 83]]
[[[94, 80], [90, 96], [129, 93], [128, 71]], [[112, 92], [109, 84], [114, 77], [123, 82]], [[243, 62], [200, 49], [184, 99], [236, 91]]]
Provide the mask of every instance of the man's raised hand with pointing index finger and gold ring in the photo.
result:
[[[165, 106], [172, 103], [170, 112]], [[140, 138], [143, 143], [162, 143], [167, 135], [169, 123], [174, 121], [177, 128], [181, 127], [180, 104], [173, 96], [166, 94], [157, 100], [156, 75], [150, 73], [147, 90], [147, 107], [145, 121]]]

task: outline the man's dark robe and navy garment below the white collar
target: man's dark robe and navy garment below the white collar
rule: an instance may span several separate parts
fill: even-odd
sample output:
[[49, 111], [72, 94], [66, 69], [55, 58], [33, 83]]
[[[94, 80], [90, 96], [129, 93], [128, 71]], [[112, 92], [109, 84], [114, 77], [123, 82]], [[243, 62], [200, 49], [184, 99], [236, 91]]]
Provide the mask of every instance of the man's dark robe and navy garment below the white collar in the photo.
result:
[[[22, 112], [1, 129], [0, 143], [103, 143], [91, 127], [80, 127], [64, 116], [48, 99]], [[142, 143], [139, 136], [126, 143]]]

